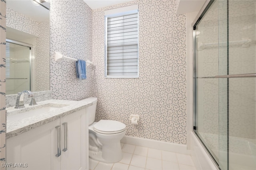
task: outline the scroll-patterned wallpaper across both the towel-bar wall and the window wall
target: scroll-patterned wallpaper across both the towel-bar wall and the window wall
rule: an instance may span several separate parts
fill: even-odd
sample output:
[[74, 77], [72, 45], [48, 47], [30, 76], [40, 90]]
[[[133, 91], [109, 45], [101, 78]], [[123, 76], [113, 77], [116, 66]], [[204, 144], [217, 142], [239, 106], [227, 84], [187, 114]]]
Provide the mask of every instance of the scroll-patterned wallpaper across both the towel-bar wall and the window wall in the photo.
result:
[[[139, 4], [139, 78], [104, 78], [104, 10]], [[126, 135], [186, 144], [186, 17], [175, 0], [138, 0], [91, 10], [82, 0], [54, 0], [50, 20], [50, 85], [54, 99], [98, 97], [96, 121], [127, 126]], [[75, 62], [88, 59], [87, 79]], [[130, 114], [140, 115], [130, 125]]]

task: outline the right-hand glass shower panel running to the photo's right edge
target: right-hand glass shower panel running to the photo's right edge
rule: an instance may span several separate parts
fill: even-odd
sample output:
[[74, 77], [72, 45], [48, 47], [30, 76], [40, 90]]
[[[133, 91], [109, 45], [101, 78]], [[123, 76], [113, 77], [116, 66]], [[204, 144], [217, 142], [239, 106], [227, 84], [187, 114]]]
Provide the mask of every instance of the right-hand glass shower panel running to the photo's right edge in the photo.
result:
[[229, 167], [256, 169], [256, 1], [229, 1]]

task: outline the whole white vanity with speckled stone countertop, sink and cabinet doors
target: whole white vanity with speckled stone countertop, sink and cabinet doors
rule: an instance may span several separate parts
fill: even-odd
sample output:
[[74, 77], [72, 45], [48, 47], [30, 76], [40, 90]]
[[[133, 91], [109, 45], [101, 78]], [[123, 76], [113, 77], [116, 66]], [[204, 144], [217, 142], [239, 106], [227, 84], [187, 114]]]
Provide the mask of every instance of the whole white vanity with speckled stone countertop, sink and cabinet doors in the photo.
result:
[[23, 109], [7, 108], [6, 163], [27, 166], [26, 170], [88, 170], [90, 105], [86, 99], [52, 99]]

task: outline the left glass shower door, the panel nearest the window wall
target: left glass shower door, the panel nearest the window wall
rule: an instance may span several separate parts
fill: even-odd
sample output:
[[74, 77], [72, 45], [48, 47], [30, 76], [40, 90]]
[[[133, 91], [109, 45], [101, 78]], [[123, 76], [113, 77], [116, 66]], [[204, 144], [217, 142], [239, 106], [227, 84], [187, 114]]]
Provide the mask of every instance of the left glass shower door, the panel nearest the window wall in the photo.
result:
[[194, 27], [195, 127], [208, 152], [228, 170], [228, 11], [227, 0], [212, 2]]

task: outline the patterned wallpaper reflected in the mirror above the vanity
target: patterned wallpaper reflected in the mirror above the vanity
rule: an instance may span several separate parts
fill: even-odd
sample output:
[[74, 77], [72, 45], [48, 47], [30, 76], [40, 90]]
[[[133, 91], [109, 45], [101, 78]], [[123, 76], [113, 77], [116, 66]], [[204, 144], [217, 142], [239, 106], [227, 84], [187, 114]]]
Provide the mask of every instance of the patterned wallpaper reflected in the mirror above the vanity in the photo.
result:
[[10, 8], [6, 8], [6, 16], [6, 26], [37, 37], [35, 39], [35, 91], [49, 90], [49, 21], [38, 22]]

